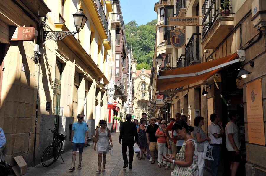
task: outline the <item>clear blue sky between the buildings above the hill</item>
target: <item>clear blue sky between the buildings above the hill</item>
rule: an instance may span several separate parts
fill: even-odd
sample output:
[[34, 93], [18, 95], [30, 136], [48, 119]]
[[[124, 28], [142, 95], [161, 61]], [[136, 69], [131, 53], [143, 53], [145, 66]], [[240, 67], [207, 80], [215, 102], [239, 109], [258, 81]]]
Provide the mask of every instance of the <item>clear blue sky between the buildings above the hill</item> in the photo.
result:
[[124, 24], [135, 20], [138, 26], [157, 18], [154, 4], [159, 0], [120, 0]]

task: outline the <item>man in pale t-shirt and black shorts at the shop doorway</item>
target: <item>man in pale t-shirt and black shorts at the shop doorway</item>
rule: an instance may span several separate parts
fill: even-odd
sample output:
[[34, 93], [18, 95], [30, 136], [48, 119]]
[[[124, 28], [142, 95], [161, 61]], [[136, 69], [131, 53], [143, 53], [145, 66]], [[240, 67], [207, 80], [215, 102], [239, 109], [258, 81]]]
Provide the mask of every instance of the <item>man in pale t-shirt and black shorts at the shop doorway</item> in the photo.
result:
[[229, 113], [230, 121], [226, 125], [226, 149], [229, 152], [229, 160], [231, 162], [230, 170], [231, 176], [236, 175], [237, 168], [241, 161], [240, 152], [240, 133], [239, 128], [236, 125], [239, 115], [236, 112], [231, 111]]

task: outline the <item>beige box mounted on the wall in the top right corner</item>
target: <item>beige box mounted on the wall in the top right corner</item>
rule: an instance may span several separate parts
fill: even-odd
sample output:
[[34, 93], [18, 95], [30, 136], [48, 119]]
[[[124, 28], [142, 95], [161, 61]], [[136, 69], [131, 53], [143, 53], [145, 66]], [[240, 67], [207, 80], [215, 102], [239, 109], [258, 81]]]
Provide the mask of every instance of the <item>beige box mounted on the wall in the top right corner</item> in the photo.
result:
[[251, 21], [253, 28], [266, 27], [266, 3], [265, 0], [254, 0], [251, 4]]

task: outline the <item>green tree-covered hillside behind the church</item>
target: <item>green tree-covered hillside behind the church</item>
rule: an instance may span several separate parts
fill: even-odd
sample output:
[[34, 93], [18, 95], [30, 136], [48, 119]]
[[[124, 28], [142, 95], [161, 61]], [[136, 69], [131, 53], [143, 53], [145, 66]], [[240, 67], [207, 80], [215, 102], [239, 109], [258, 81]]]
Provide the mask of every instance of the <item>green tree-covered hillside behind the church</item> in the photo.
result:
[[154, 44], [155, 44], [155, 24], [157, 20], [152, 20], [146, 25], [140, 25], [136, 21], [130, 21], [125, 24], [127, 46], [133, 46], [133, 57], [137, 59], [137, 70], [144, 67], [151, 69]]

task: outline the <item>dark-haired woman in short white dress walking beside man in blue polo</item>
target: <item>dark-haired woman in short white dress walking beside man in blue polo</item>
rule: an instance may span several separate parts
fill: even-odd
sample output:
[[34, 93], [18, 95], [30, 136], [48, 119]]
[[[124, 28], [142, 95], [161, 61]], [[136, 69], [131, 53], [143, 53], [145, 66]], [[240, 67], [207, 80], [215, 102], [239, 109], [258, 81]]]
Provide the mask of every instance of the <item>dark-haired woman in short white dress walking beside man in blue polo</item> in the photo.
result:
[[111, 146], [113, 147], [112, 138], [110, 130], [106, 127], [106, 121], [100, 120], [99, 122], [100, 128], [96, 131], [96, 140], [94, 145], [94, 150], [96, 151], [96, 144], [98, 144], [97, 152], [98, 152], [98, 166], [99, 169], [96, 172], [101, 172], [101, 164], [102, 164], [102, 156], [103, 156], [103, 169], [105, 171], [105, 163], [106, 163], [106, 154], [109, 152], [109, 141]]

